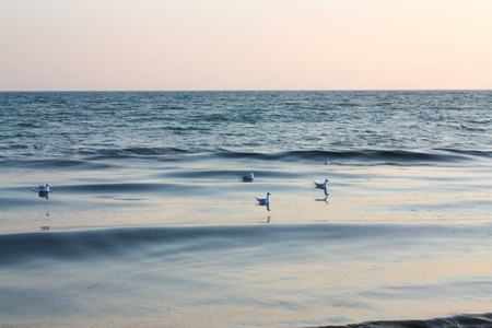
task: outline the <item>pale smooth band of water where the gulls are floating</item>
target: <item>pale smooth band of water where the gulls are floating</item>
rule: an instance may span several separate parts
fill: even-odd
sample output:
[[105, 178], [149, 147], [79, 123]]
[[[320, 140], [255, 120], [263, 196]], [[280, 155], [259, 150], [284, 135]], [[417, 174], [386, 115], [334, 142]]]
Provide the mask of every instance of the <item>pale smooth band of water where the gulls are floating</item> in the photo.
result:
[[[239, 174], [248, 169], [241, 160], [176, 164], [10, 175], [0, 188], [2, 231], [263, 222], [447, 223], [489, 221], [492, 210], [492, 169], [487, 166], [367, 167], [251, 160], [248, 164], [258, 168], [256, 178], [245, 183]], [[328, 195], [313, 183], [325, 178]], [[40, 195], [36, 188], [45, 181], [51, 191]], [[255, 199], [267, 192], [272, 194], [269, 211]]]

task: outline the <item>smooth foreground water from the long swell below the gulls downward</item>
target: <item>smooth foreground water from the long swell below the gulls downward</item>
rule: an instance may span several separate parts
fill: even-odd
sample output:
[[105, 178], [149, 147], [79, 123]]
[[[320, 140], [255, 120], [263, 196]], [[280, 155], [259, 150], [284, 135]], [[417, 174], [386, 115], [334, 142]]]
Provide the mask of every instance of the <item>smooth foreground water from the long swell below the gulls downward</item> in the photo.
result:
[[270, 224], [3, 235], [0, 316], [305, 327], [490, 309], [492, 225]]

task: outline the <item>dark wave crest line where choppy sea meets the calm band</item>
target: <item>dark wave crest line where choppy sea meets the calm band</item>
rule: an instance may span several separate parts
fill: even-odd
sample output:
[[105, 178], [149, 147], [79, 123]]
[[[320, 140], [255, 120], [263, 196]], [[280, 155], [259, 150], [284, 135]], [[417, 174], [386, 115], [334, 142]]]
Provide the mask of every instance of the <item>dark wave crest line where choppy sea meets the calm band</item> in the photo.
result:
[[[12, 145], [11, 151], [25, 151], [27, 145]], [[118, 160], [139, 161], [209, 161], [209, 160], [243, 160], [243, 161], [280, 161], [301, 162], [304, 164], [324, 163], [327, 159], [332, 165], [353, 166], [460, 166], [460, 165], [491, 165], [492, 151], [432, 149], [432, 150], [294, 150], [281, 152], [249, 152], [231, 151], [225, 149], [187, 149], [187, 148], [159, 148], [133, 147], [114, 149], [69, 149], [59, 150], [51, 156], [47, 152], [30, 152], [24, 157], [7, 154], [1, 156], [2, 162], [9, 166], [23, 167], [74, 167], [74, 168], [104, 168], [129, 164]]]

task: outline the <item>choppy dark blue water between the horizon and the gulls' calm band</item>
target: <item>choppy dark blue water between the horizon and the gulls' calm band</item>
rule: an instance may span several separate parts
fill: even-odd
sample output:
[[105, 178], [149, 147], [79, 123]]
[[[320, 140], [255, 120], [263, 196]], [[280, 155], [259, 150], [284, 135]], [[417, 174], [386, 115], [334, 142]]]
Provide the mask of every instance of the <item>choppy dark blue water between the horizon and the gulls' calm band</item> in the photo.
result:
[[491, 104], [490, 91], [0, 93], [0, 163], [203, 153], [350, 164], [490, 161]]

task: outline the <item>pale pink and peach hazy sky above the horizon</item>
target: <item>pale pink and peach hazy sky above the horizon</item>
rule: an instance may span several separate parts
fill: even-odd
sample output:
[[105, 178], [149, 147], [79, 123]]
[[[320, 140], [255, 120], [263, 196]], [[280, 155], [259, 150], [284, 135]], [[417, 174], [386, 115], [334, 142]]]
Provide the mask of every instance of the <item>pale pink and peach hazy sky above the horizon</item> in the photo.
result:
[[0, 91], [491, 89], [491, 0], [0, 0]]

